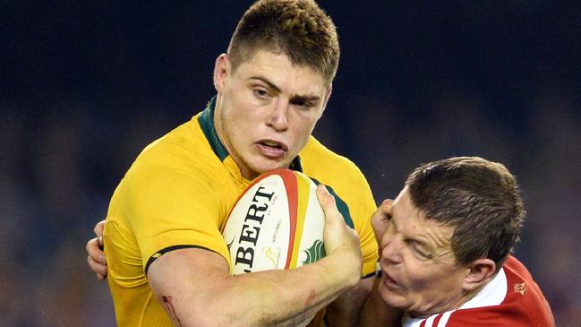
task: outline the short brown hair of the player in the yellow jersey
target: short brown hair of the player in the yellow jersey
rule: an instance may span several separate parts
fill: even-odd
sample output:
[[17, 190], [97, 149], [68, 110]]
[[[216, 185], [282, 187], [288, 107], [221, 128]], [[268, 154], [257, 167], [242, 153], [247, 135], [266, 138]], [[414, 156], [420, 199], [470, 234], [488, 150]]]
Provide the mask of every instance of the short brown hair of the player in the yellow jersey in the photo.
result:
[[337, 72], [335, 24], [312, 0], [260, 0], [252, 4], [228, 46], [233, 70], [259, 49], [284, 53], [293, 65], [308, 65], [329, 83]]

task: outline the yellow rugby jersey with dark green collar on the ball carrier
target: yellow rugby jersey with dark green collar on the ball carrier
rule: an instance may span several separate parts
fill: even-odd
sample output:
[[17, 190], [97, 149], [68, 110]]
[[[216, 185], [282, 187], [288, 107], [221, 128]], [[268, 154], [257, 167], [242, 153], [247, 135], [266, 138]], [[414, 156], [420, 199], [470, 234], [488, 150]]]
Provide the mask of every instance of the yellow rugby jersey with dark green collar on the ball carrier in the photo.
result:
[[[161, 254], [202, 247], [231, 264], [220, 229], [251, 181], [218, 139], [214, 105], [212, 99], [192, 120], [146, 147], [115, 189], [104, 241], [107, 281], [120, 326], [172, 325], [146, 275]], [[361, 238], [362, 276], [372, 274], [378, 253], [370, 219], [376, 206], [361, 171], [313, 137], [291, 168], [332, 188], [339, 210]]]

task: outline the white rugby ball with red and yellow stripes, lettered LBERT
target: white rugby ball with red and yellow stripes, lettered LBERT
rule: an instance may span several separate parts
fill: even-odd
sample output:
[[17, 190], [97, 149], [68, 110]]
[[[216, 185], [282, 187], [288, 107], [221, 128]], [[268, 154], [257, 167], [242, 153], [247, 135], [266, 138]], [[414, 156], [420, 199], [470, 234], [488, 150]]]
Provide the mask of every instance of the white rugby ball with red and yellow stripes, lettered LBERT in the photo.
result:
[[278, 169], [256, 178], [222, 230], [232, 273], [293, 269], [325, 256], [325, 216], [316, 185], [303, 173]]

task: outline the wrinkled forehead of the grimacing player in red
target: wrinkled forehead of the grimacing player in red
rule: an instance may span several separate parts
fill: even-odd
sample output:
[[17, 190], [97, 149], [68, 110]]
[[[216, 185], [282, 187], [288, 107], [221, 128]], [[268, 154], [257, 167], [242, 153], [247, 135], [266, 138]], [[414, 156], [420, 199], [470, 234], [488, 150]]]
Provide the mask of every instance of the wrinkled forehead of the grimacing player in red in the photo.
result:
[[434, 219], [426, 219], [415, 207], [407, 186], [397, 195], [391, 209], [397, 231], [405, 237], [417, 239], [435, 248], [449, 247], [454, 228], [443, 226]]

